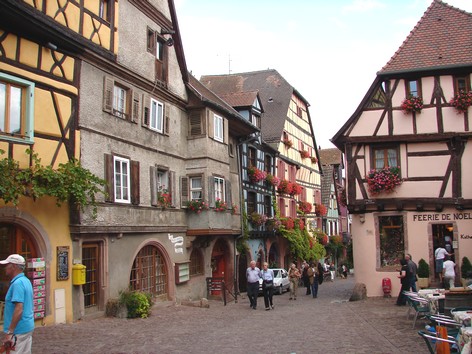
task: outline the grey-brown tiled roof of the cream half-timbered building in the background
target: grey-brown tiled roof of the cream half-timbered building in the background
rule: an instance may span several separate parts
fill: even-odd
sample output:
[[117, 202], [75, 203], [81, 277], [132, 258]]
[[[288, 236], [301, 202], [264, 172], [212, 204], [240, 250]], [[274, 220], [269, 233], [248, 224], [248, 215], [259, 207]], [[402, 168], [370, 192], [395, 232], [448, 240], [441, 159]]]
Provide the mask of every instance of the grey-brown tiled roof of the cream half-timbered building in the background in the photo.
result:
[[294, 88], [276, 70], [208, 75], [200, 81], [220, 96], [258, 91], [265, 112], [261, 120], [262, 137], [268, 143], [280, 141]]

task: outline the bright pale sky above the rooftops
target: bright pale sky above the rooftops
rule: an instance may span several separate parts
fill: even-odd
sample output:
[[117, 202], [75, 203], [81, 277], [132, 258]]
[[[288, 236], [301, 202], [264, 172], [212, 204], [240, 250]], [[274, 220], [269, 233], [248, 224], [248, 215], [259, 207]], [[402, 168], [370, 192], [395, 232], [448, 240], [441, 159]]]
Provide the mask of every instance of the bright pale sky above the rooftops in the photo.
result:
[[[322, 149], [432, 1], [174, 0], [188, 70], [277, 70], [310, 104]], [[472, 12], [472, 0], [444, 2]]]

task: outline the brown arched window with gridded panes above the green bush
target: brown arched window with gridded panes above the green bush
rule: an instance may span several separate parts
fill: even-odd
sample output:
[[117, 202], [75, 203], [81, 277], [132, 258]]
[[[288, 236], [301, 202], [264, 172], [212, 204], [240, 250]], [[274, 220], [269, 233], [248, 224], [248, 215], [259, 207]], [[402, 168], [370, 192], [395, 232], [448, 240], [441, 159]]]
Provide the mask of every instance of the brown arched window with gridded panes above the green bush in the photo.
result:
[[154, 296], [167, 294], [167, 269], [157, 247], [143, 247], [133, 262], [130, 287]]

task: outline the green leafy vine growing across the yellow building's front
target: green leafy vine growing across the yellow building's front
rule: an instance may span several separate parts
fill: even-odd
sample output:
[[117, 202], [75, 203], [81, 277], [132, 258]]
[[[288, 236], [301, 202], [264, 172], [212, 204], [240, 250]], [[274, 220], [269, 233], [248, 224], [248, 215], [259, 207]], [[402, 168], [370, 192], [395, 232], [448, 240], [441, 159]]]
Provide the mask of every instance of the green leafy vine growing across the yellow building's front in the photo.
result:
[[[0, 155], [4, 153], [0, 150]], [[93, 217], [96, 217], [95, 195], [104, 194], [104, 180], [83, 168], [75, 159], [59, 164], [57, 170], [54, 170], [51, 166], [43, 166], [38, 154], [30, 149], [26, 153], [32, 163], [25, 169], [21, 169], [16, 160], [0, 160], [0, 199], [6, 204], [18, 205], [20, 196], [33, 200], [50, 196], [56, 198], [58, 206], [65, 202], [73, 202], [82, 209], [91, 205]]]

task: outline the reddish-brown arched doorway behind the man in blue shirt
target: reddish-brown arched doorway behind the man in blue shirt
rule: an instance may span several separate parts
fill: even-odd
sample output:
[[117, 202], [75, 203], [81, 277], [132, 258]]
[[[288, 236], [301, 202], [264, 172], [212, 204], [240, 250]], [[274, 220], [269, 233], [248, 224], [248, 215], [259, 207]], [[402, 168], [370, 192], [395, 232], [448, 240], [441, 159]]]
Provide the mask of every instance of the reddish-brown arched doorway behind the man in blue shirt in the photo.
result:
[[[24, 227], [13, 223], [0, 223], [0, 259], [18, 253], [25, 259], [37, 258], [39, 247], [34, 236]], [[10, 280], [0, 272], [0, 301], [5, 301]]]

